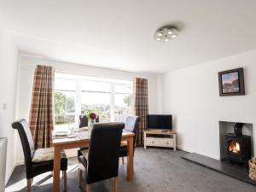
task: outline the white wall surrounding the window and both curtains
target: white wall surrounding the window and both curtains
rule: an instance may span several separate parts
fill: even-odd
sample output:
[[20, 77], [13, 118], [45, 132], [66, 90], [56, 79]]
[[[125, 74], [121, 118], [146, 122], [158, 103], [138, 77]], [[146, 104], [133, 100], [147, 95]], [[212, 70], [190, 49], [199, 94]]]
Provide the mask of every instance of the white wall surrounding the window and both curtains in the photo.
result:
[[[78, 65], [74, 63], [62, 61], [50, 61], [40, 59], [29, 55], [20, 56], [20, 91], [19, 91], [19, 105], [18, 117], [29, 117], [30, 104], [32, 99], [32, 83], [33, 73], [37, 65], [50, 65], [55, 67], [57, 73], [72, 73], [79, 75], [99, 76], [113, 79], [133, 79], [135, 77], [148, 79], [148, 105], [149, 113], [158, 112], [157, 104], [157, 76], [143, 73], [130, 73], [119, 70], [112, 70], [102, 67], [89, 67]], [[23, 160], [22, 151], [20, 150], [20, 141], [17, 142], [17, 161]]]

